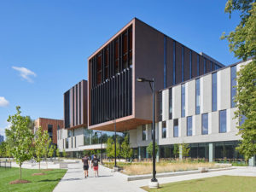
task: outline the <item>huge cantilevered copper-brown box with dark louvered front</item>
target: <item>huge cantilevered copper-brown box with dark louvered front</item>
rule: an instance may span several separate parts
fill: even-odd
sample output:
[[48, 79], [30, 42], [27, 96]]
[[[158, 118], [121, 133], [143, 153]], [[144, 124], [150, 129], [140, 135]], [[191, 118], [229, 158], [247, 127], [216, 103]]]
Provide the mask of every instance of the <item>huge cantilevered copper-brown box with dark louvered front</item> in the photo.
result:
[[[115, 90], [115, 88], [119, 89], [119, 87], [125, 86], [126, 83], [122, 83], [124, 78], [119, 78], [119, 74], [113, 73], [113, 76], [98, 79], [97, 75], [102, 75], [103, 71], [97, 71], [96, 69], [99, 69], [99, 67], [102, 69], [105, 68], [104, 65], [106, 62], [104, 62], [104, 58], [102, 59], [100, 57], [101, 54], [104, 53], [105, 49], [108, 49], [108, 46], [111, 48], [111, 44], [116, 48], [114, 42], [118, 41], [120, 37], [123, 39], [123, 34], [130, 29], [132, 31], [132, 48], [130, 47], [132, 53], [131, 65], [124, 68], [123, 71], [119, 71], [120, 76], [123, 75], [124, 77], [125, 73], [131, 72], [131, 90], [128, 90], [128, 93], [131, 93], [131, 113], [124, 113], [122, 110], [125, 110], [125, 108], [122, 108], [122, 105], [129, 106], [129, 94], [128, 97], [125, 97], [126, 92], [123, 93]], [[121, 48], [122, 46], [124, 44], [121, 44]], [[116, 55], [116, 50], [119, 51], [119, 49], [113, 49], [114, 56]], [[97, 58], [101, 58], [103, 61], [97, 62]], [[114, 61], [110, 60], [108, 65], [114, 67]], [[123, 65], [122, 54], [119, 56], [118, 61], [120, 65]], [[152, 122], [151, 90], [148, 84], [138, 83], [137, 78], [154, 78], [155, 90], [157, 92], [173, 84], [179, 84], [203, 73], [213, 71], [216, 67], [223, 67], [223, 65], [207, 55], [196, 53], [194, 50], [185, 47], [183, 44], [167, 37], [162, 32], [148, 26], [143, 21], [134, 18], [88, 58], [89, 129], [113, 131], [113, 119], [115, 119], [118, 131], [135, 129], [137, 125]], [[174, 68], [175, 73], [173, 73]], [[128, 80], [130, 82], [130, 79]], [[114, 96], [111, 97], [108, 94], [108, 84], [111, 84], [109, 82], [112, 81], [114, 82], [113, 88], [110, 87], [113, 89], [113, 92], [117, 91], [117, 93], [114, 93]], [[105, 87], [106, 84], [107, 88]], [[105, 96], [107, 100], [105, 100]], [[108, 98], [109, 96], [111, 97], [110, 99]], [[102, 105], [105, 105], [108, 101], [110, 101], [110, 104], [109, 106], [107, 105], [105, 113], [105, 107], [102, 107]], [[121, 115], [113, 114], [116, 109], [115, 105], [118, 105]], [[121, 106], [120, 108], [119, 105]], [[108, 110], [108, 108], [110, 109]], [[158, 116], [157, 113], [156, 116]]]

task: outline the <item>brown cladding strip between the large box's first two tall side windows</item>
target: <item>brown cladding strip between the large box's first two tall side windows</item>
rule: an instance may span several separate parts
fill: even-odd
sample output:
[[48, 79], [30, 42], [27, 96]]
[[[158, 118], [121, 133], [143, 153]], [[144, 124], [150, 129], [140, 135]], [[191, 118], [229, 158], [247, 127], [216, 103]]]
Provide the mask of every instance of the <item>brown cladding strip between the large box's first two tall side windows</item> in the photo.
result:
[[172, 85], [173, 73], [173, 40], [166, 38], [166, 87]]

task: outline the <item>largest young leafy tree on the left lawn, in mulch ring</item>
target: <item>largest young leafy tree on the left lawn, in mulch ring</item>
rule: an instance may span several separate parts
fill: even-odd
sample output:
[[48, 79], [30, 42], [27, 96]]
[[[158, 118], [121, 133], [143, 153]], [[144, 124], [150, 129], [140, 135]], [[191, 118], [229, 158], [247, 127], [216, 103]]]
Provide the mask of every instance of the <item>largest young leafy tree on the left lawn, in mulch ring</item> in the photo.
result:
[[17, 113], [9, 115], [7, 120], [11, 123], [9, 129], [5, 130], [7, 143], [9, 144], [10, 153], [14, 157], [15, 162], [21, 166], [24, 161], [32, 159], [32, 131], [29, 129], [31, 119], [20, 115], [20, 107], [16, 107]]

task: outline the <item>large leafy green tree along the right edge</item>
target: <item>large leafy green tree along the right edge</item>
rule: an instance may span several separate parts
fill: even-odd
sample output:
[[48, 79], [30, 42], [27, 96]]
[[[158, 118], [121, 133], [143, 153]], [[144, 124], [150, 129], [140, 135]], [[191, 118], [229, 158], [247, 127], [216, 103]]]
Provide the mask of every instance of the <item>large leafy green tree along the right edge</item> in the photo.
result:
[[233, 11], [240, 12], [241, 21], [235, 31], [223, 34], [222, 38], [228, 40], [230, 51], [237, 58], [243, 61], [252, 58], [237, 73], [235, 99], [235, 118], [241, 121], [241, 117], [246, 117], [244, 123], [237, 126], [242, 138], [237, 149], [248, 160], [256, 154], [256, 3], [254, 0], [228, 0], [224, 11], [230, 15]]

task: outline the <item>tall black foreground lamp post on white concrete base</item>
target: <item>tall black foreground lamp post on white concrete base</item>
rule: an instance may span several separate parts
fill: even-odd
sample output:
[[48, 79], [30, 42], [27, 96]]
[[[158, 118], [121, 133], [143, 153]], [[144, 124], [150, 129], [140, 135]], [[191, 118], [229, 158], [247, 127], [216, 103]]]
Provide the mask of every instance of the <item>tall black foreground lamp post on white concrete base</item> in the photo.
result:
[[152, 90], [153, 94], [153, 118], [152, 118], [152, 128], [153, 128], [153, 177], [151, 178], [151, 181], [149, 182], [149, 188], [158, 188], [159, 183], [155, 177], [155, 127], [154, 127], [154, 78], [152, 80], [150, 79], [143, 79], [143, 78], [138, 78], [137, 82], [148, 82], [150, 89]]

